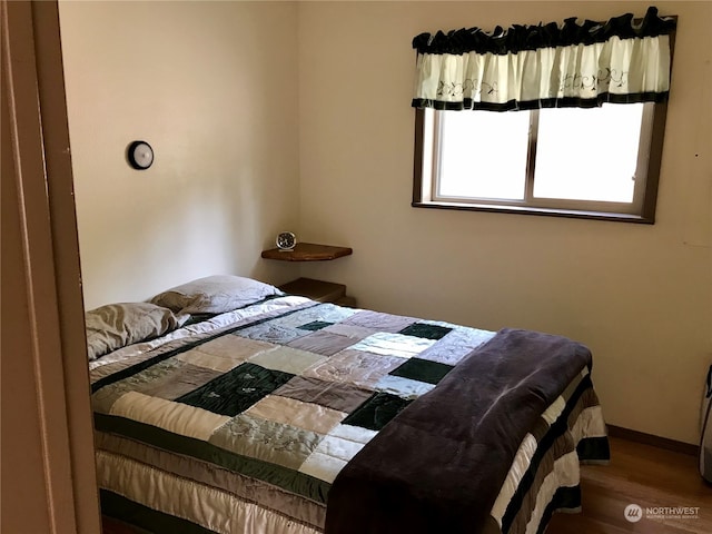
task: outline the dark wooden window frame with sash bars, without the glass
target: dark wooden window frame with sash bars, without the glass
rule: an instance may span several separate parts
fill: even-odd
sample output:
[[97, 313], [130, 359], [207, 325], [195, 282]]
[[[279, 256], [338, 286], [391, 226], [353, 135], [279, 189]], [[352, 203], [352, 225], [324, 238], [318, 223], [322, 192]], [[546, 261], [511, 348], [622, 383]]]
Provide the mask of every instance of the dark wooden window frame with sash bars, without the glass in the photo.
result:
[[[624, 106], [624, 105], [623, 105]], [[413, 207], [457, 209], [471, 211], [494, 211], [524, 215], [544, 215], [554, 217], [573, 217], [584, 219], [602, 219], [624, 222], [641, 222], [652, 225], [655, 222], [655, 208], [657, 204], [657, 190], [660, 169], [662, 162], [662, 147], [668, 115], [668, 102], [650, 102], [652, 111], [644, 111], [642, 130], [650, 128], [650, 142], [647, 147], [639, 149], [639, 169], [646, 167], [642, 191], [637, 191], [637, 198], [633, 205], [627, 202], [571, 200], [571, 199], [536, 199], [533, 205], [534, 186], [534, 159], [536, 155], [536, 135], [530, 135], [527, 147], [527, 164], [525, 179], [524, 200], [500, 199], [456, 199], [453, 197], [438, 197], [434, 189], [433, 175], [436, 165], [434, 152], [436, 148], [438, 126], [431, 127], [429, 121], [437, 121], [437, 113], [433, 109], [415, 109], [415, 144], [414, 144], [414, 170], [413, 170]], [[467, 110], [455, 111], [466, 113]], [[426, 113], [434, 113], [429, 119]], [[531, 125], [536, 126], [538, 110], [533, 110]], [[534, 130], [536, 132], [536, 130]], [[644, 132], [644, 131], [643, 131]], [[646, 142], [643, 135], [641, 145]], [[428, 149], [428, 147], [432, 147]], [[640, 178], [637, 178], [640, 179]]]

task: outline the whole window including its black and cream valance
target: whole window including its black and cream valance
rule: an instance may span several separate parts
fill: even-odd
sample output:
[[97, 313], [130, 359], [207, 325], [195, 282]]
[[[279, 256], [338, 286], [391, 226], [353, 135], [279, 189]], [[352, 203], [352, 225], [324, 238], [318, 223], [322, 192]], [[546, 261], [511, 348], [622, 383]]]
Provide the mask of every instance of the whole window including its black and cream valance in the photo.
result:
[[413, 39], [413, 205], [654, 222], [675, 16]]

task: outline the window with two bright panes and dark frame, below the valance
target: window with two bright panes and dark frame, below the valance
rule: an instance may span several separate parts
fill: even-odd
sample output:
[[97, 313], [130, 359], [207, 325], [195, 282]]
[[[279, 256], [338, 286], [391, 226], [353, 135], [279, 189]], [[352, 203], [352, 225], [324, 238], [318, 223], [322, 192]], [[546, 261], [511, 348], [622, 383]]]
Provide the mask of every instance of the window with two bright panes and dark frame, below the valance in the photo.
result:
[[652, 224], [665, 108], [416, 109], [413, 205]]

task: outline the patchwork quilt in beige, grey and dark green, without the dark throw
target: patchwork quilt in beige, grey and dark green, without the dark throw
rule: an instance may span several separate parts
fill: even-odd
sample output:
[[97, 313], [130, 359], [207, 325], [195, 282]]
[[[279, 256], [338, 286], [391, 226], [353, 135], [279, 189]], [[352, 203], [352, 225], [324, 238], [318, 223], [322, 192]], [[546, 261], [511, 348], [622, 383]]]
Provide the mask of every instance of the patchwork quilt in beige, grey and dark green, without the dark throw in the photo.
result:
[[[279, 297], [99, 358], [102, 510], [150, 532], [323, 532], [345, 466], [493, 338]], [[553, 510], [576, 508], [580, 456], [607, 458], [589, 370], [560, 379], [515, 438], [490, 490], [498, 532], [537, 532]]]

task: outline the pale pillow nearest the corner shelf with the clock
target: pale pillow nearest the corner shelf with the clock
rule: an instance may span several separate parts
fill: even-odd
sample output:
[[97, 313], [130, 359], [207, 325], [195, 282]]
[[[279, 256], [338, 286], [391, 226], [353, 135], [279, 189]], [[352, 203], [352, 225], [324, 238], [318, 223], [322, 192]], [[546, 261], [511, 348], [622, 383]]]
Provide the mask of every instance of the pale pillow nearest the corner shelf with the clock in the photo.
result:
[[275, 286], [233, 275], [214, 275], [172, 287], [151, 298], [151, 303], [181, 314], [224, 314], [284, 295]]

